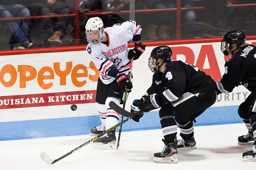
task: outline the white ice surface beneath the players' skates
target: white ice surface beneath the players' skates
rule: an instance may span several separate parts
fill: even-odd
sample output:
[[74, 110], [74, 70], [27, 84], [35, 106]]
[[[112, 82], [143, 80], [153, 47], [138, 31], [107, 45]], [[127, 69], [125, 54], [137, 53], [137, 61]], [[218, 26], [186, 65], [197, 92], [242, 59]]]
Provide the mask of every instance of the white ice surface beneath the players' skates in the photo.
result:
[[[178, 139], [180, 130], [178, 128]], [[243, 162], [242, 153], [252, 146], [237, 144], [247, 134], [244, 124], [195, 127], [197, 149], [178, 150], [178, 163], [156, 163], [162, 150], [162, 130], [122, 132], [118, 150], [102, 150], [93, 144], [48, 165], [40, 158], [46, 152], [57, 159], [92, 138], [90, 135], [0, 141], [1, 170], [243, 170], [256, 162]], [[118, 133], [116, 133], [116, 136]], [[254, 169], [254, 168], [252, 168]]]

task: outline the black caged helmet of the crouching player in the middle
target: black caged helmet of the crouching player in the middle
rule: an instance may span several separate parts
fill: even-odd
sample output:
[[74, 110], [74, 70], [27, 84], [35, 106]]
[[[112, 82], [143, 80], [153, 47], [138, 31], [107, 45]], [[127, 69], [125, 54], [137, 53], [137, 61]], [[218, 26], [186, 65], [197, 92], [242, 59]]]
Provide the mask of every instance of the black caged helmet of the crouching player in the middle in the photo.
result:
[[[161, 67], [164, 62], [171, 61], [172, 56], [173, 56], [173, 52], [169, 46], [155, 47], [151, 51], [150, 57], [148, 58], [148, 67], [154, 73], [159, 72], [159, 67]], [[162, 60], [156, 63], [159, 58], [161, 58]], [[158, 66], [158, 70], [157, 70], [157, 66]]]

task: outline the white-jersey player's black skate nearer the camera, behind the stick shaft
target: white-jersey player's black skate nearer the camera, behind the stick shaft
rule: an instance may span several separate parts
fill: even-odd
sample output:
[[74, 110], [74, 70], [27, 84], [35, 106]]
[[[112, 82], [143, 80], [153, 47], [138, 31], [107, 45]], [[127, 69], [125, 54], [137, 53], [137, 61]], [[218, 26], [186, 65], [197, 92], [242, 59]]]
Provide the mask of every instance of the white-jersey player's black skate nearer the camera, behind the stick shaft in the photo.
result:
[[96, 139], [93, 141], [93, 145], [96, 148], [109, 148], [114, 149], [116, 148], [116, 134], [115, 130], [112, 130], [102, 136], [101, 138]]

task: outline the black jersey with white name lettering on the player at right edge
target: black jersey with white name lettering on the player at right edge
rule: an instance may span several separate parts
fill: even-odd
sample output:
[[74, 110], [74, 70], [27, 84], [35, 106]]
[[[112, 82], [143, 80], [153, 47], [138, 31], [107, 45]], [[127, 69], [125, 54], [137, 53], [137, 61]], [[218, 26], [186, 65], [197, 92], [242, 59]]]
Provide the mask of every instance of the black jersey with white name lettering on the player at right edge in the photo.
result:
[[217, 81], [217, 94], [229, 93], [238, 85], [256, 92], [256, 47], [246, 45], [225, 63], [225, 74]]

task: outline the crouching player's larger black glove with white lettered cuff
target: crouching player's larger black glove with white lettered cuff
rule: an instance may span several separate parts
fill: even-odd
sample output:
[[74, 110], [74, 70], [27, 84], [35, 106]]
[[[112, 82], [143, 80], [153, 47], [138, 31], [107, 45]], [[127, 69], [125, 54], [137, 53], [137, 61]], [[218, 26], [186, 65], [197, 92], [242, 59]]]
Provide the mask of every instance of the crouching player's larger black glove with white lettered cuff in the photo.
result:
[[161, 107], [157, 94], [151, 94], [149, 96], [142, 96], [143, 100], [138, 103], [138, 107], [143, 112], [149, 112], [151, 110]]

